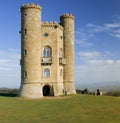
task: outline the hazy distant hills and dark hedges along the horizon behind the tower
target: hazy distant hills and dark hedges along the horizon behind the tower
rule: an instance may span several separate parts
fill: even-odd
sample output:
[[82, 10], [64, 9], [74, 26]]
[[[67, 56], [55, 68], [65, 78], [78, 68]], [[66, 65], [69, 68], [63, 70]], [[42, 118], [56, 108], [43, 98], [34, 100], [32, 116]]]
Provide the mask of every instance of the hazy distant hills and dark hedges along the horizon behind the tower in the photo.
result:
[[[120, 96], [120, 82], [100, 82], [76, 84], [77, 94], [97, 94], [99, 89], [103, 95]], [[18, 96], [19, 88], [0, 87], [0, 96], [16, 97]]]

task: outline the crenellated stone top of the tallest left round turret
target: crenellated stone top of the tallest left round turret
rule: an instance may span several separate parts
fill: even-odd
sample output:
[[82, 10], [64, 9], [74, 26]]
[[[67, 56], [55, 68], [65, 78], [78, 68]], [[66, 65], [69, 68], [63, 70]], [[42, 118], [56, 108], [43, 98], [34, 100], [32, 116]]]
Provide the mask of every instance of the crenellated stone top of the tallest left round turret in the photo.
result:
[[21, 6], [20, 10], [22, 11], [24, 9], [39, 9], [39, 10], [42, 10], [42, 8], [40, 7], [40, 5], [34, 4], [34, 3], [24, 4], [23, 6]]

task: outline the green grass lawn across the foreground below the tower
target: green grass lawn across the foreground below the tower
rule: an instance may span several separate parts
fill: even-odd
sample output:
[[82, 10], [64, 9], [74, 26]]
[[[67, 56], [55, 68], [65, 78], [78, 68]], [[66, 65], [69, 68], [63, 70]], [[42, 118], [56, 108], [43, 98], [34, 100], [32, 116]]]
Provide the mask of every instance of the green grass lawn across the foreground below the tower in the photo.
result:
[[0, 123], [120, 123], [120, 98], [74, 95], [25, 100], [0, 97]]

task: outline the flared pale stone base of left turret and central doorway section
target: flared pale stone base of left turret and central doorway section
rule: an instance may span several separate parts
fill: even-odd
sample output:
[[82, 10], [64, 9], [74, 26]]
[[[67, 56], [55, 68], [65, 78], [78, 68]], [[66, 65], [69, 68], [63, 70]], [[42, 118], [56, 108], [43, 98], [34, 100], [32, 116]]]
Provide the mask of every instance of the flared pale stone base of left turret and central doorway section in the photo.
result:
[[22, 83], [19, 96], [24, 98], [43, 98], [63, 95], [63, 83]]

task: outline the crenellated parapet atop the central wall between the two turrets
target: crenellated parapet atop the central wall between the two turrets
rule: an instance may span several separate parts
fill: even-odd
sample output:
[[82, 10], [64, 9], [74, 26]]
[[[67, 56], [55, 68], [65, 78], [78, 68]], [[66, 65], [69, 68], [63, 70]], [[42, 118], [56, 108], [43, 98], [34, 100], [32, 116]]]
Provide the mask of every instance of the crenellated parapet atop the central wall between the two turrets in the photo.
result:
[[42, 22], [42, 26], [43, 27], [55, 27], [55, 28], [58, 27], [61, 30], [63, 30], [63, 27], [59, 23], [57, 23], [56, 21], [55, 22], [48, 22], [48, 21]]

